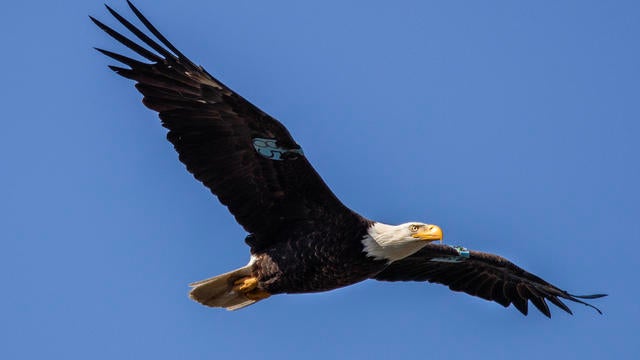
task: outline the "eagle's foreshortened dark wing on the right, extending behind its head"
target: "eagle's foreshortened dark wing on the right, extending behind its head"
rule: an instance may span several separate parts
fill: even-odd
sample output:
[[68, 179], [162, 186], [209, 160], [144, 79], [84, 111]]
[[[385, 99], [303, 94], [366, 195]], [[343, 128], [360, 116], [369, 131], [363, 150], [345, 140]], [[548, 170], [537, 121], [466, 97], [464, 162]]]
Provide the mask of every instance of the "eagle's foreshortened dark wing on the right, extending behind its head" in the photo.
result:
[[507, 307], [513, 304], [527, 315], [531, 301], [547, 317], [551, 312], [545, 300], [572, 314], [559, 298], [594, 308], [580, 299], [595, 299], [604, 294], [578, 296], [561, 290], [509, 260], [479, 251], [448, 245], [428, 244], [417, 253], [389, 265], [375, 276], [382, 281], [429, 281], [449, 286]]

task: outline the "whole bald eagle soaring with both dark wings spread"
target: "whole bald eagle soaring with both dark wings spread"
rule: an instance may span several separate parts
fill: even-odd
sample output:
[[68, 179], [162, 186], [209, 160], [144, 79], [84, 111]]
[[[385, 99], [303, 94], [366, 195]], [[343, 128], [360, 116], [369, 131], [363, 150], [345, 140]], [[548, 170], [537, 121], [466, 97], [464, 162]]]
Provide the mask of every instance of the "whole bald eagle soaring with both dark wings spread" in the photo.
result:
[[[193, 176], [218, 197], [247, 231], [249, 263], [191, 284], [190, 297], [236, 310], [275, 294], [327, 291], [366, 279], [428, 281], [451, 290], [513, 304], [528, 301], [544, 315], [560, 299], [600, 310], [493, 254], [436, 243], [433, 224], [388, 225], [346, 207], [316, 173], [289, 131], [193, 63], [135, 7], [148, 33], [109, 6], [139, 42], [91, 20], [145, 61], [97, 49], [126, 67], [109, 66], [134, 80], [143, 103], [159, 113], [167, 139]], [[148, 61], [148, 62], [147, 62]]]

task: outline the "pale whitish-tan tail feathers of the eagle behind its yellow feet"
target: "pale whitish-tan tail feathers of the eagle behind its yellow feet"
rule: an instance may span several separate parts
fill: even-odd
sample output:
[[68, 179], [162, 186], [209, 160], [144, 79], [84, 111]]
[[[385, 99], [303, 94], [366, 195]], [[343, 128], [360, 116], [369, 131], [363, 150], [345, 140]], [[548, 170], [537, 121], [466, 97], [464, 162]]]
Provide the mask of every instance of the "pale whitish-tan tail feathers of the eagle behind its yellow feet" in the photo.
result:
[[249, 306], [259, 300], [247, 299], [243, 294], [233, 290], [234, 282], [246, 276], [251, 276], [251, 266], [247, 265], [228, 273], [189, 284], [193, 289], [189, 297], [211, 307], [223, 307], [227, 310], [237, 310]]

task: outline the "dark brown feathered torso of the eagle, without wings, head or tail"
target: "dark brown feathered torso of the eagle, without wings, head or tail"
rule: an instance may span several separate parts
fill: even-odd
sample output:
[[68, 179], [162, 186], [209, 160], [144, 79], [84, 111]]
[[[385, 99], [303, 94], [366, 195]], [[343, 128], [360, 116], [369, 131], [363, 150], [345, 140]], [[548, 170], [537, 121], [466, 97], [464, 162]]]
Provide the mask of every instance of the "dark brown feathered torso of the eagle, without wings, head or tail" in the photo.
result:
[[386, 261], [363, 252], [362, 239], [370, 222], [355, 216], [352, 222], [337, 220], [294, 224], [275, 235], [277, 240], [266, 248], [253, 246], [253, 237], [248, 237], [252, 273], [261, 286], [270, 294], [326, 291], [380, 272]]

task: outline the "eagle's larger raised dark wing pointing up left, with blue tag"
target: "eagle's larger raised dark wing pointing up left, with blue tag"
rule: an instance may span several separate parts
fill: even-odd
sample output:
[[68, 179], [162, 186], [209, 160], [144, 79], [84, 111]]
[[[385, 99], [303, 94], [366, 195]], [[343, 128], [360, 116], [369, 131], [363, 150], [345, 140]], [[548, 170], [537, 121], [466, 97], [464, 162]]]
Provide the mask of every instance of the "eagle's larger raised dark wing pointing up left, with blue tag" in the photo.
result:
[[280, 122], [195, 65], [127, 2], [162, 45], [107, 6], [142, 45], [91, 20], [150, 63], [97, 50], [128, 66], [110, 68], [137, 82], [143, 103], [157, 111], [169, 129], [167, 139], [180, 161], [245, 230], [268, 234], [286, 222], [313, 219], [320, 209], [351, 213]]

